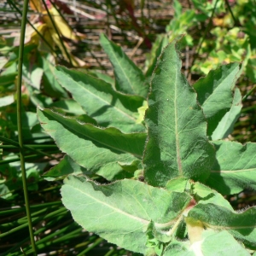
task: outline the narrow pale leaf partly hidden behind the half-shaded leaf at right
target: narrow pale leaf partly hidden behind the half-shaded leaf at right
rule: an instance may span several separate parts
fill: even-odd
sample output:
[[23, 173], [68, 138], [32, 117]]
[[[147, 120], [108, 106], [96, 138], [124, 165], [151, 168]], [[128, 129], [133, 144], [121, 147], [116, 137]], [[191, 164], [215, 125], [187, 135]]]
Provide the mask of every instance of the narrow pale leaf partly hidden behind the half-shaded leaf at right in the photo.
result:
[[230, 135], [234, 130], [237, 119], [240, 117], [241, 107], [241, 92], [236, 88], [230, 111], [225, 113], [224, 117], [218, 123], [217, 128], [212, 132], [212, 141], [223, 139]]

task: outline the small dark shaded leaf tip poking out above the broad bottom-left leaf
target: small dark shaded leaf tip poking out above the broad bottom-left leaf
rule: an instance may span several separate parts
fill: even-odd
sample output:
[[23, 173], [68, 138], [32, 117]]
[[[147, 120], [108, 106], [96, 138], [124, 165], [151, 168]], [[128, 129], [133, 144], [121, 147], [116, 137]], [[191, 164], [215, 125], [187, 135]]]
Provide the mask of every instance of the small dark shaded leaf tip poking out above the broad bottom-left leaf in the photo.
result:
[[64, 178], [68, 174], [90, 175], [91, 173], [87, 172], [84, 167], [79, 166], [71, 157], [66, 154], [57, 165], [52, 167], [48, 172], [44, 173], [43, 177], [48, 181], [54, 181], [60, 178]]

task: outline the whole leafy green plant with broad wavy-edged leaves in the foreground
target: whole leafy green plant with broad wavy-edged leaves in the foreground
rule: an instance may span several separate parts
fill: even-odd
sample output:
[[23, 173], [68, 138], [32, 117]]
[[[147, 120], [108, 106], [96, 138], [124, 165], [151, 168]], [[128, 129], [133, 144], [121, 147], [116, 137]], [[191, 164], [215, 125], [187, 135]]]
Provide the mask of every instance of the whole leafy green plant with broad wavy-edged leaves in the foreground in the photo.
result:
[[[135, 253], [251, 255], [256, 208], [236, 212], [224, 199], [256, 189], [256, 144], [223, 140], [241, 111], [241, 65], [219, 67], [191, 86], [173, 41], [158, 58], [146, 104], [148, 78], [119, 46], [103, 35], [101, 42], [115, 84], [55, 69], [84, 121], [38, 108], [44, 131], [67, 154], [45, 175], [66, 177], [64, 206], [84, 229]], [[109, 183], [96, 183], [96, 175]]]

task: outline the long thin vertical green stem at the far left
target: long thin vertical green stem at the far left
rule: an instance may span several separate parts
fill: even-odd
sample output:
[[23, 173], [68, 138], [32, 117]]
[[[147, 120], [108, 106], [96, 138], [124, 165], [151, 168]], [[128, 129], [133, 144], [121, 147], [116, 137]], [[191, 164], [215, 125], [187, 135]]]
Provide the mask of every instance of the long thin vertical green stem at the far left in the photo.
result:
[[19, 48], [19, 65], [18, 65], [18, 80], [17, 80], [17, 123], [18, 123], [18, 134], [19, 134], [19, 145], [20, 145], [20, 167], [21, 167], [21, 173], [22, 173], [24, 198], [26, 203], [26, 216], [27, 216], [27, 222], [28, 222], [28, 230], [29, 230], [33, 253], [34, 255], [37, 255], [37, 247], [36, 247], [34, 236], [33, 236], [32, 218], [30, 213], [29, 198], [28, 198], [27, 185], [26, 185], [26, 168], [25, 168], [25, 159], [24, 159], [24, 147], [23, 147], [23, 140], [22, 140], [22, 122], [21, 122], [22, 64], [23, 64], [23, 51], [24, 51], [24, 41], [25, 41], [25, 32], [26, 32], [27, 9], [28, 9], [28, 0], [24, 0], [22, 19], [21, 19], [21, 29], [20, 29], [20, 48]]

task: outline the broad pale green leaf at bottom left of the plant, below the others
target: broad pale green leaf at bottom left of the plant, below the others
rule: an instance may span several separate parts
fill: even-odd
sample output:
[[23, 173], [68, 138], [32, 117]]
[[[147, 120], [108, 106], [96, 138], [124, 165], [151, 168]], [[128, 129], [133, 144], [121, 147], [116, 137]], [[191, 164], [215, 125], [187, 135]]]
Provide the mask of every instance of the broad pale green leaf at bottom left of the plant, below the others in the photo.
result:
[[134, 180], [96, 185], [75, 176], [65, 179], [61, 195], [84, 229], [137, 253], [147, 250], [148, 224], [153, 221], [158, 230], [170, 230], [191, 199]]

